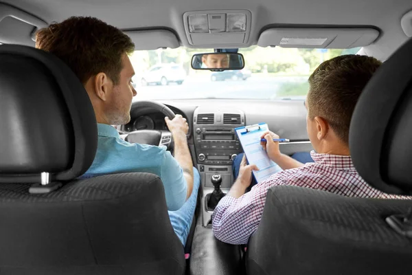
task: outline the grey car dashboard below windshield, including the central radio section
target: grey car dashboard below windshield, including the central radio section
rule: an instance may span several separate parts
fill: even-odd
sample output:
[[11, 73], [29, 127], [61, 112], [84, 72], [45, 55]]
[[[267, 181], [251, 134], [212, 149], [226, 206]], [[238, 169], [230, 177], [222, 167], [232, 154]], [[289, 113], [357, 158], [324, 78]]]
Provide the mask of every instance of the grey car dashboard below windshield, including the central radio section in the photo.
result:
[[[181, 114], [186, 118], [190, 129], [187, 142], [194, 164], [217, 164], [217, 162], [208, 162], [207, 156], [203, 157], [205, 153], [210, 153], [210, 149], [220, 147], [222, 150], [227, 150], [225, 147], [228, 146], [229, 149], [230, 146], [230, 149], [242, 151], [238, 143], [231, 144], [231, 142], [236, 142], [236, 136], [232, 135], [233, 133], [222, 135], [222, 132], [233, 131], [237, 126], [258, 124], [260, 122], [266, 122], [271, 131], [291, 141], [288, 144], [282, 144], [281, 151], [283, 150], [283, 153], [291, 155], [296, 151], [310, 151], [312, 149], [306, 133], [307, 111], [302, 100], [180, 99], [156, 101], [165, 104], [174, 113]], [[241, 124], [225, 124], [223, 121], [218, 121], [218, 118], [223, 120], [223, 116], [233, 114], [240, 115], [242, 118]], [[202, 119], [206, 119], [207, 116], [214, 119], [208, 124], [200, 125], [196, 121], [198, 115], [201, 115]], [[168, 131], [164, 117], [165, 115], [159, 111], [132, 104], [130, 122], [122, 126], [122, 130], [125, 132], [139, 130]], [[221, 142], [222, 144], [215, 144], [214, 142]], [[227, 155], [236, 153], [224, 152]], [[200, 154], [203, 155], [199, 159]], [[219, 164], [231, 164], [231, 155], [229, 159], [226, 155], [222, 158], [225, 159], [225, 162], [219, 162]]]

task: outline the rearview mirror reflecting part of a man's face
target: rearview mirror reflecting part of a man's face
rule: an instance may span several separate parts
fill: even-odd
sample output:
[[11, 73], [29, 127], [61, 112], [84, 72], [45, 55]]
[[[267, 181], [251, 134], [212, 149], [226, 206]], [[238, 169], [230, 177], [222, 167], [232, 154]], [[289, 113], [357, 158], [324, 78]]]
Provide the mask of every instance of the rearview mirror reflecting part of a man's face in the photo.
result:
[[209, 69], [210, 71], [225, 71], [226, 69], [243, 69], [244, 58], [242, 54], [211, 52], [207, 54], [194, 54], [192, 57], [193, 69]]

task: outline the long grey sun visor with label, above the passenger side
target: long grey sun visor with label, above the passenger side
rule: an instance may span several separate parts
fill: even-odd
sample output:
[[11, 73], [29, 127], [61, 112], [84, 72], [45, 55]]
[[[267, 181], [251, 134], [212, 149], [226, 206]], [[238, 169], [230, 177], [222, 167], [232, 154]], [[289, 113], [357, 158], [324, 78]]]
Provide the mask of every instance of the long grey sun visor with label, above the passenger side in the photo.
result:
[[370, 45], [378, 36], [372, 28], [271, 28], [260, 34], [258, 45], [348, 49]]

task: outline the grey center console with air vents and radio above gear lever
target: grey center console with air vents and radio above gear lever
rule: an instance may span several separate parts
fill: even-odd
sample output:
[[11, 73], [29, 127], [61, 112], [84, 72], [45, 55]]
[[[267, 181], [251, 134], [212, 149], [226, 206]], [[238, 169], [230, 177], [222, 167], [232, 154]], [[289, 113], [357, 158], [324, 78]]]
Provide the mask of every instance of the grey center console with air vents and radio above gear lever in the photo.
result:
[[207, 194], [214, 190], [212, 177], [220, 175], [220, 188], [225, 193], [233, 184], [233, 159], [242, 152], [234, 129], [244, 124], [244, 113], [238, 109], [199, 107], [194, 111], [194, 145], [203, 189], [203, 226], [211, 221], [213, 213], [206, 201]]

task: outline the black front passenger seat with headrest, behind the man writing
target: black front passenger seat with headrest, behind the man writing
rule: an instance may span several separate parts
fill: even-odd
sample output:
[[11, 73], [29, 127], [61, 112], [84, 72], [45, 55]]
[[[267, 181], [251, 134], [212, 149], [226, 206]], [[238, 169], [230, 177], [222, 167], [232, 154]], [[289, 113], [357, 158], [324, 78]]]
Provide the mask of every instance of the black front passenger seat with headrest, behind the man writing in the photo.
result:
[[[368, 184], [412, 195], [412, 40], [370, 80], [350, 126], [354, 166]], [[249, 239], [247, 274], [411, 274], [412, 201], [268, 190]]]

